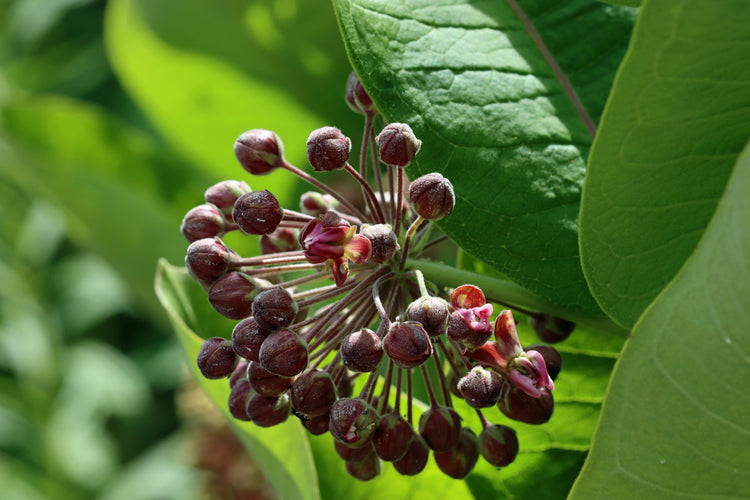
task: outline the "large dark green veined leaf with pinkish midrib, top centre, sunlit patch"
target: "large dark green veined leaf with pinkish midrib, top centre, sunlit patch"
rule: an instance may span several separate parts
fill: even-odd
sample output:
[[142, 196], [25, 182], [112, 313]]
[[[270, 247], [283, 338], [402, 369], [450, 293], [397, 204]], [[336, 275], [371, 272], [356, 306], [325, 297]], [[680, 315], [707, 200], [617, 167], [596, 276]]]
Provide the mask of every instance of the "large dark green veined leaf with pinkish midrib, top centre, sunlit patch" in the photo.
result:
[[596, 117], [633, 11], [523, 2], [524, 24], [506, 1], [334, 5], [363, 85], [388, 120], [409, 123], [423, 141], [409, 175], [439, 171], [455, 186], [441, 227], [541, 298], [601, 314], [578, 256], [591, 134], [528, 28]]

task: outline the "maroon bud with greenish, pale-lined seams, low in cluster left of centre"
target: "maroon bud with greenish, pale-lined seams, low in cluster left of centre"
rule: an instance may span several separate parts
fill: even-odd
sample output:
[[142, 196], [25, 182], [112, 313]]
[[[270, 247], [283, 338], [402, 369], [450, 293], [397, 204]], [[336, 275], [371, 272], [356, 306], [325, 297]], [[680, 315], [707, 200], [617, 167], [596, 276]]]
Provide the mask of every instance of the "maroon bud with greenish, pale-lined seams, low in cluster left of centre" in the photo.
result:
[[331, 407], [331, 435], [353, 448], [370, 445], [377, 422], [375, 409], [364, 399], [339, 399]]

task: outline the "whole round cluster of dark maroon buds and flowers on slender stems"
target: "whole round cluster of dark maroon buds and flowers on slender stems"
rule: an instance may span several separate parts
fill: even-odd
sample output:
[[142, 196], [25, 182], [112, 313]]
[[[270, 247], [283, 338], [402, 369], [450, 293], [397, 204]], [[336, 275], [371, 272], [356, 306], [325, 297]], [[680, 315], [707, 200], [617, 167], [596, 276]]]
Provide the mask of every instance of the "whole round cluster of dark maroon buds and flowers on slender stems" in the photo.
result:
[[[430, 241], [429, 222], [451, 213], [453, 186], [438, 173], [407, 186], [421, 141], [403, 123], [376, 136], [377, 111], [354, 74], [346, 100], [365, 116], [359, 168], [349, 163], [350, 139], [334, 127], [310, 134], [307, 156], [316, 172], [347, 172], [360, 203], [290, 164], [274, 132], [254, 129], [234, 144], [242, 167], [253, 175], [284, 169], [315, 190], [291, 210], [270, 191], [224, 181], [185, 215], [190, 275], [216, 311], [238, 320], [231, 339], [203, 343], [198, 367], [209, 379], [229, 378], [229, 410], [239, 420], [267, 427], [293, 415], [312, 434], [330, 432], [361, 480], [375, 477], [381, 461], [417, 474], [430, 451], [454, 478], [479, 455], [506, 466], [518, 453], [516, 433], [482, 409], [546, 422], [560, 357], [549, 346], [524, 349], [510, 310], [491, 321], [493, 305], [477, 286], [441, 298], [425, 281], [417, 259], [445, 240]], [[261, 255], [229, 248], [222, 237], [233, 231], [258, 236]], [[547, 315], [532, 319], [539, 332], [572, 329]], [[418, 419], [417, 383], [429, 398]], [[461, 398], [476, 409], [478, 436], [454, 409]]]

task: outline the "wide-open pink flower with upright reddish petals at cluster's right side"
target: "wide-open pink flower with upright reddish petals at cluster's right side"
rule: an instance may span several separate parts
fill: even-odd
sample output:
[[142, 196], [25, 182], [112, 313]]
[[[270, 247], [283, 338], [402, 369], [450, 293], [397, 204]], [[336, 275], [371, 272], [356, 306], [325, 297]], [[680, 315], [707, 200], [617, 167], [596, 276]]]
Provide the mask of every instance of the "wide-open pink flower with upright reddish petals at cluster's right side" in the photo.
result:
[[511, 383], [533, 398], [555, 388], [542, 355], [534, 350], [524, 351], [518, 340], [513, 313], [505, 310], [495, 320], [495, 341], [467, 351], [466, 356], [506, 373]]

